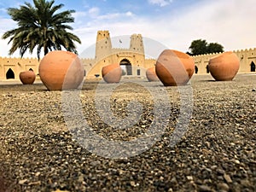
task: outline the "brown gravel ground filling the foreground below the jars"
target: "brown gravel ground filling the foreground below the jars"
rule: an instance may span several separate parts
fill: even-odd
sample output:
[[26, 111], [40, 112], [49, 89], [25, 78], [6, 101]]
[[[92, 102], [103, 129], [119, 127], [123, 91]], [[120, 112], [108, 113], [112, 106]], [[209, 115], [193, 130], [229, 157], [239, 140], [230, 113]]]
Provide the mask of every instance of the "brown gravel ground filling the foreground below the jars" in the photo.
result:
[[[109, 98], [105, 90], [110, 84], [86, 81], [79, 101], [73, 92], [69, 96], [48, 91], [39, 83], [1, 84], [0, 192], [256, 191], [255, 74], [238, 74], [229, 82], [216, 82], [209, 74], [194, 75], [191, 86], [183, 86], [192, 88], [193, 102], [188, 97], [185, 103], [177, 87], [165, 88], [146, 79], [131, 81], [120, 84]], [[155, 134], [148, 132], [156, 106], [150, 89], [165, 90], [171, 109], [168, 112], [166, 100], [157, 97], [163, 109], [160, 115], [168, 112], [168, 117], [163, 124], [166, 129]], [[69, 97], [63, 100], [63, 95]], [[102, 104], [97, 107], [95, 101]], [[105, 111], [106, 102], [111, 110], [105, 116], [117, 117], [117, 121], [104, 121], [97, 113], [99, 108]], [[79, 120], [84, 119], [76, 118], [75, 112], [73, 120], [68, 119], [66, 105], [76, 106], [90, 131], [102, 141], [113, 142], [113, 148], [94, 141], [93, 134], [82, 128]], [[192, 116], [183, 125], [184, 135], [170, 146], [179, 117], [185, 115], [182, 108], [193, 109]], [[136, 111], [139, 115], [132, 115]], [[118, 120], [129, 124], [127, 116], [134, 125], [120, 129], [117, 124], [122, 121]], [[83, 137], [90, 142], [83, 144]], [[140, 143], [128, 151], [114, 144], [136, 138]], [[142, 153], [136, 154], [137, 148], [143, 148]], [[119, 158], [113, 159], [113, 154]]]

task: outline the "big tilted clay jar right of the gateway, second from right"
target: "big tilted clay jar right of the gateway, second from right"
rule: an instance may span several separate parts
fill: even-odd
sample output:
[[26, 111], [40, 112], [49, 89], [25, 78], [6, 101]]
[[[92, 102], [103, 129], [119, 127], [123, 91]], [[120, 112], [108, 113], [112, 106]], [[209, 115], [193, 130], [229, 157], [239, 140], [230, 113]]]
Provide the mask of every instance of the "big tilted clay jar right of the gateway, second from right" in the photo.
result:
[[193, 58], [181, 51], [165, 49], [158, 57], [155, 72], [165, 86], [187, 84], [195, 71]]

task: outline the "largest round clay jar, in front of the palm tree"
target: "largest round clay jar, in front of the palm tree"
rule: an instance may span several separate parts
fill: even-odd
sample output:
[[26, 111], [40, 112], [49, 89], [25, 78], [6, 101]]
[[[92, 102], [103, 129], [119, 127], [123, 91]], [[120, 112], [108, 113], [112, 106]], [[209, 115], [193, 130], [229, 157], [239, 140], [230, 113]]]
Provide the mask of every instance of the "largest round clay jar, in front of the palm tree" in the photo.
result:
[[54, 50], [40, 61], [39, 76], [48, 90], [77, 89], [84, 79], [84, 67], [78, 55]]

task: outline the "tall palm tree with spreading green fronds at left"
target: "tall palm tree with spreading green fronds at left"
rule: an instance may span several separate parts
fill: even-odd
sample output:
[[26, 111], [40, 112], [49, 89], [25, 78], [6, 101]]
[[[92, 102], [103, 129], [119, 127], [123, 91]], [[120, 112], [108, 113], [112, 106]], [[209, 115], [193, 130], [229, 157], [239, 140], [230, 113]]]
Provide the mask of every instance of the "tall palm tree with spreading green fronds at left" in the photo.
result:
[[[20, 57], [26, 50], [32, 54], [33, 49], [37, 47], [38, 60], [41, 49], [44, 49], [44, 55], [53, 49], [65, 48], [77, 54], [75, 42], [81, 44], [80, 39], [67, 30], [73, 30], [67, 23], [74, 22], [71, 16], [74, 10], [60, 11], [64, 5], [54, 5], [55, 1], [33, 0], [31, 3], [20, 5], [20, 9], [9, 8], [8, 14], [18, 24], [18, 27], [5, 32], [3, 39], [10, 38], [12, 42], [9, 55], [12, 55], [16, 49], [20, 49]], [[58, 12], [58, 13], [56, 13]], [[8, 43], [8, 44], [9, 44]]]

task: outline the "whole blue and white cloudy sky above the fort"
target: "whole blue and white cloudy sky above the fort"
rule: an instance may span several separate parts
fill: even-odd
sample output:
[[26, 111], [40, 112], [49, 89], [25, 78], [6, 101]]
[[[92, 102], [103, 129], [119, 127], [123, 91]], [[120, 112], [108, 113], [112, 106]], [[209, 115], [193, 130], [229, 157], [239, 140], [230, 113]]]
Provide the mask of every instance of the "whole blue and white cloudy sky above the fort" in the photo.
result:
[[[16, 27], [7, 9], [25, 2], [32, 0], [0, 2], [0, 37]], [[62, 11], [75, 10], [75, 21], [69, 25], [82, 41], [76, 44], [79, 53], [96, 43], [99, 30], [108, 30], [111, 38], [142, 34], [183, 52], [196, 39], [222, 44], [225, 51], [256, 47], [255, 0], [55, 0], [60, 3]], [[8, 42], [0, 39], [2, 57], [9, 56]], [[19, 50], [10, 56], [18, 57]]]

